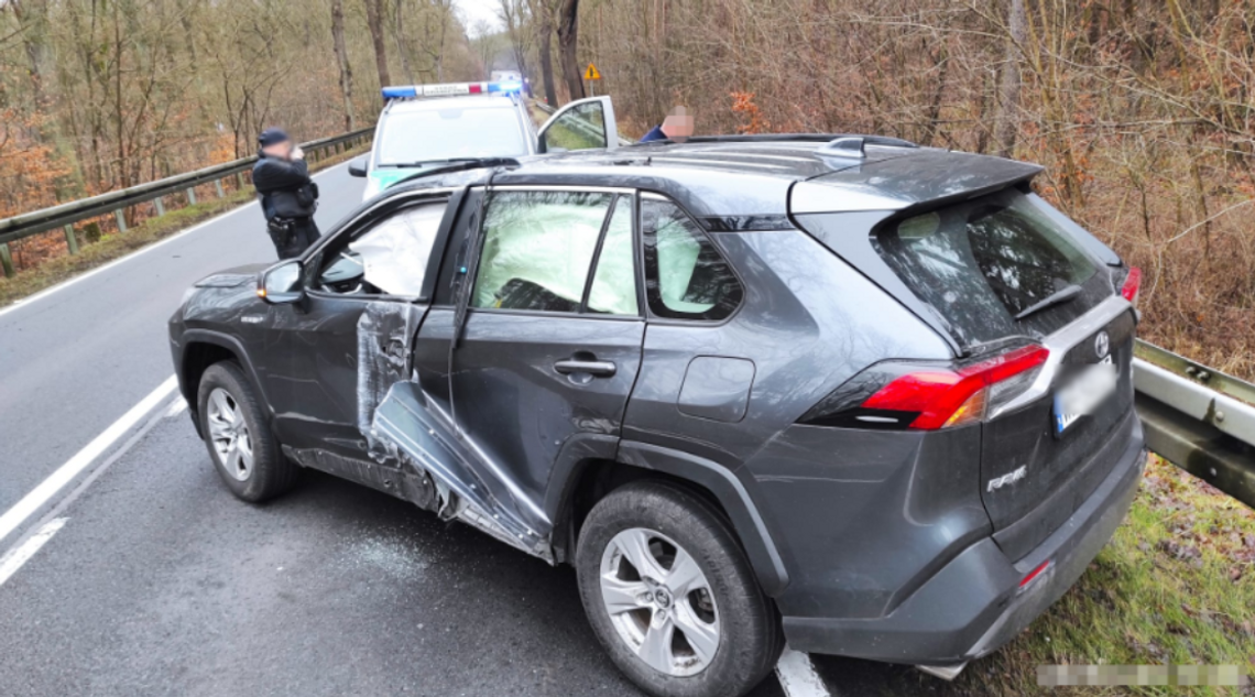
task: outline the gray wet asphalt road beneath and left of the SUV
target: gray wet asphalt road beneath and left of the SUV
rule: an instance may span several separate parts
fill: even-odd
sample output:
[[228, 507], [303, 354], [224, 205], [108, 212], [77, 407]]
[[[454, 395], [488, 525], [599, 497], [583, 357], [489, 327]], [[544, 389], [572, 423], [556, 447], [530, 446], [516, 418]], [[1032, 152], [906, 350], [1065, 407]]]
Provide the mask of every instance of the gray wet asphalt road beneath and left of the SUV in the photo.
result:
[[[340, 166], [319, 185], [326, 229], [361, 182]], [[0, 310], [0, 514], [171, 376], [186, 288], [272, 259], [250, 205]], [[164, 399], [0, 540], [0, 693], [639, 694], [571, 569], [316, 472], [242, 504], [179, 407]], [[768, 678], [754, 696], [934, 688], [865, 662], [813, 669], [817, 689]]]

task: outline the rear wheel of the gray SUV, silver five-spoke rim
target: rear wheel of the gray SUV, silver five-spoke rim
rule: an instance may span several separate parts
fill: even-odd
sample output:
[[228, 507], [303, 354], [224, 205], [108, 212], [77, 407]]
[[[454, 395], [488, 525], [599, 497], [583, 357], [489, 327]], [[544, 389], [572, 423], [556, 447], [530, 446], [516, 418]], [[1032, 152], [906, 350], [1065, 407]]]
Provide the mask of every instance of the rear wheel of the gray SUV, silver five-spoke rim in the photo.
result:
[[629, 484], [599, 501], [580, 531], [576, 574], [601, 646], [656, 697], [744, 694], [784, 648], [776, 607], [724, 515], [670, 482]]

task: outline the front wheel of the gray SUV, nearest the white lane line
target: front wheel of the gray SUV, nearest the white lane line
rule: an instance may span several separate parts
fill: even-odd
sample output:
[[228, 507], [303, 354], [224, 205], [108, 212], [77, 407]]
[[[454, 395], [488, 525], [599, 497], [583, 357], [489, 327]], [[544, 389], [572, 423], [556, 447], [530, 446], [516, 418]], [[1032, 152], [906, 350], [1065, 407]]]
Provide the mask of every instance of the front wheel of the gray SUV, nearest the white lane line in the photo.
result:
[[201, 376], [197, 406], [210, 460], [236, 497], [257, 504], [296, 484], [300, 467], [279, 450], [257, 394], [238, 365], [210, 365]]

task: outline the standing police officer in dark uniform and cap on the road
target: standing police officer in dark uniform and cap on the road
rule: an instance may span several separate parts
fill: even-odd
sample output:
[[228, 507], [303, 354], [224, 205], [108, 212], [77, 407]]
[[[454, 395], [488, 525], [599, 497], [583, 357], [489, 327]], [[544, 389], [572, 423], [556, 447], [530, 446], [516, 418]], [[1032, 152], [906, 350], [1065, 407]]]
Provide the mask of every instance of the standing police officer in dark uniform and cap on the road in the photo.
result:
[[314, 224], [318, 185], [310, 180], [305, 153], [282, 129], [262, 131], [257, 144], [252, 186], [261, 200], [266, 230], [280, 259], [300, 256], [320, 235]]

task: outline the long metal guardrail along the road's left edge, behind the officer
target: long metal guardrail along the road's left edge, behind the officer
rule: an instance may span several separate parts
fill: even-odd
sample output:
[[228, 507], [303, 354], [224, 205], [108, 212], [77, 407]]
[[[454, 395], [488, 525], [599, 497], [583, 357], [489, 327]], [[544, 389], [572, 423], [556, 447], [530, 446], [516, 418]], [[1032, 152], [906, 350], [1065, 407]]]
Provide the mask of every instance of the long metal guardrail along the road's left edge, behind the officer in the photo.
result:
[[[301, 143], [301, 148], [306, 151], [311, 162], [316, 162], [330, 154], [351, 149], [363, 142], [370, 141], [371, 138], [374, 138], [373, 127]], [[10, 278], [16, 273], [13, 265], [13, 256], [9, 251], [9, 242], [21, 240], [31, 235], [61, 227], [65, 231], [65, 244], [69, 247], [70, 254], [78, 254], [78, 239], [74, 234], [74, 224], [80, 220], [113, 211], [113, 215], [118, 221], [118, 231], [125, 232], [127, 219], [124, 213], [131, 206], [154, 201], [157, 215], [161, 216], [166, 212], [166, 206], [162, 201], [163, 196], [178, 191], [186, 191], [188, 203], [195, 205], [196, 187], [210, 182], [216, 185], [217, 196], [221, 198], [226, 195], [222, 188], [222, 180], [233, 175], [236, 177], [237, 187], [243, 188], [243, 172], [252, 168], [252, 165], [256, 161], [257, 156], [254, 154], [232, 162], [223, 162], [222, 165], [197, 170], [195, 172], [176, 175], [173, 177], [166, 177], [163, 180], [118, 191], [108, 191], [105, 193], [100, 193], [99, 196], [92, 196], [90, 198], [70, 201], [50, 208], [0, 220], [0, 267], [4, 269], [4, 275], [6, 278]]]

